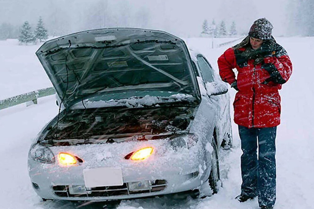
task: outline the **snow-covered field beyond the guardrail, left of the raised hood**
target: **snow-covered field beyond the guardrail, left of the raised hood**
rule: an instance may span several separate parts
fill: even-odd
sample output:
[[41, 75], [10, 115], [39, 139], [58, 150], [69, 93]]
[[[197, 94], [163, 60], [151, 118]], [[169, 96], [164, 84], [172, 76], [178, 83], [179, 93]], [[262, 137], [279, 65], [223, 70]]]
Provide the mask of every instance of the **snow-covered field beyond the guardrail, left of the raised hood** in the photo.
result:
[[0, 100], [52, 86], [35, 55], [40, 45], [18, 43], [17, 39], [0, 40]]

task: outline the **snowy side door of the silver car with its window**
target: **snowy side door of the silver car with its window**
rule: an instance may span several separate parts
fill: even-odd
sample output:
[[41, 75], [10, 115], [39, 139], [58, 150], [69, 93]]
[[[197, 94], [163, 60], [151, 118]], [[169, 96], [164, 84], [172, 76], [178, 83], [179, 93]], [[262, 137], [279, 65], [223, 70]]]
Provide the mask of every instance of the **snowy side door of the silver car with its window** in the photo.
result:
[[[197, 55], [197, 65], [200, 71], [200, 74], [203, 79], [203, 84], [206, 89], [206, 84], [209, 83], [221, 83], [220, 77], [214, 73], [212, 66], [206, 60], [203, 55]], [[225, 136], [225, 128], [227, 126], [228, 116], [230, 112], [229, 103], [230, 97], [229, 94], [221, 94], [221, 95], [211, 95], [209, 96], [209, 104], [214, 107], [216, 110], [217, 122], [216, 132], [217, 132], [217, 140], [218, 143], [221, 143], [222, 138]], [[229, 112], [228, 112], [229, 111]]]

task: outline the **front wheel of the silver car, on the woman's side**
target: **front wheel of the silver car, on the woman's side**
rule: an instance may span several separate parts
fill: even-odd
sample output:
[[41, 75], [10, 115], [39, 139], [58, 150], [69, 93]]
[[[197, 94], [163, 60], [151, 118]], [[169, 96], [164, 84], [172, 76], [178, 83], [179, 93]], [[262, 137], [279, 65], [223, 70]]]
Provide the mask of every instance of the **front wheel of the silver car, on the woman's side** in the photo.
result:
[[217, 144], [213, 140], [212, 146], [214, 148], [212, 155], [211, 155], [211, 161], [212, 161], [212, 168], [210, 170], [210, 174], [208, 177], [208, 184], [210, 188], [212, 189], [212, 194], [216, 194], [219, 190], [218, 181], [220, 179], [219, 175], [219, 159], [218, 159], [218, 148]]

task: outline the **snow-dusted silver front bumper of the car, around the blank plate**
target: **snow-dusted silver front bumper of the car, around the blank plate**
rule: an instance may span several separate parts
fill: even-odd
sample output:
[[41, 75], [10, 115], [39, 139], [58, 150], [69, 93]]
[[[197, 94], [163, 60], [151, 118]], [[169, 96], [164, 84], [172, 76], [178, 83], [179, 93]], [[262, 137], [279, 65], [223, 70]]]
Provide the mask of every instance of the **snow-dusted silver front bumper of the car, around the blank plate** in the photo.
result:
[[[198, 150], [186, 149], [186, 152], [171, 154], [165, 151], [142, 162], [115, 156], [95, 163], [96, 158], [85, 155], [82, 165], [70, 167], [62, 167], [57, 162], [43, 164], [29, 156], [29, 175], [34, 190], [45, 199], [106, 201], [171, 194], [196, 189], [207, 180], [211, 161], [206, 159], [205, 152]], [[53, 150], [53, 153], [57, 155], [60, 151], [65, 150]], [[83, 156], [78, 150], [75, 153]], [[86, 188], [84, 169], [99, 167], [120, 167], [123, 185]], [[148, 187], [135, 191], [129, 188], [131, 182]]]

